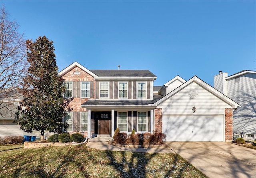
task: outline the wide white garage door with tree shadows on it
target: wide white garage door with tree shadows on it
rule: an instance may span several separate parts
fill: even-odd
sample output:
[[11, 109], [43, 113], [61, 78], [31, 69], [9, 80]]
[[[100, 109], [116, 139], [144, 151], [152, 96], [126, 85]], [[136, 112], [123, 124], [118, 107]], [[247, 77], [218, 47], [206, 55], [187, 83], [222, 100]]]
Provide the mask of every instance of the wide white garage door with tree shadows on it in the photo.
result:
[[163, 115], [166, 141], [224, 141], [224, 116]]

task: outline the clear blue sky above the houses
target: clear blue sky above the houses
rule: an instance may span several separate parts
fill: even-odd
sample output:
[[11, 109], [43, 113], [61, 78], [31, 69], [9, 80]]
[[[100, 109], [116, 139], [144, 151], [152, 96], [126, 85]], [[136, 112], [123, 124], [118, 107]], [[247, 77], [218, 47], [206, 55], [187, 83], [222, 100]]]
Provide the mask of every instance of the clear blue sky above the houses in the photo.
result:
[[149, 69], [163, 85], [256, 70], [256, 1], [7, 1], [26, 39], [54, 42], [59, 70]]

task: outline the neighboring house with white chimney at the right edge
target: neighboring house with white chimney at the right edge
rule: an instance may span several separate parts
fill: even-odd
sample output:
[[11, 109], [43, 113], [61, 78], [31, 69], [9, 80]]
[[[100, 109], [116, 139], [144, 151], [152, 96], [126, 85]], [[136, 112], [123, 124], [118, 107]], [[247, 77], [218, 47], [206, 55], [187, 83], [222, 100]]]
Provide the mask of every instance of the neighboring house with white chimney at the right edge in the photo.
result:
[[233, 112], [234, 136], [256, 138], [256, 71], [243, 70], [230, 76], [220, 71], [214, 76], [214, 88], [241, 106]]

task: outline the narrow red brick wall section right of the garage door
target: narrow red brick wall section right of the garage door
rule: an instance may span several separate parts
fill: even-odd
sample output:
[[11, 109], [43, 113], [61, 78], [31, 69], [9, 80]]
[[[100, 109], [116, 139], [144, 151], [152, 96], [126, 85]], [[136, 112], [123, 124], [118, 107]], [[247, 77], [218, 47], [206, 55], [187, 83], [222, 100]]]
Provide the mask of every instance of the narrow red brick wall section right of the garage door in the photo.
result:
[[225, 140], [233, 140], [233, 109], [225, 108]]

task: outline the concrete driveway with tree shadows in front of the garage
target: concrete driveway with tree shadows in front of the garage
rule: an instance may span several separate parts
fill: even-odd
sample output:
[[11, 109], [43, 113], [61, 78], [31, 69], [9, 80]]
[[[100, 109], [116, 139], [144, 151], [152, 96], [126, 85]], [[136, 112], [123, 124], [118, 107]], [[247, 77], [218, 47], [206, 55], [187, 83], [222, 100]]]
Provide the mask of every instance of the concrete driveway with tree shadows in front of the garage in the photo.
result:
[[256, 178], [256, 150], [229, 142], [167, 142], [209, 178]]

